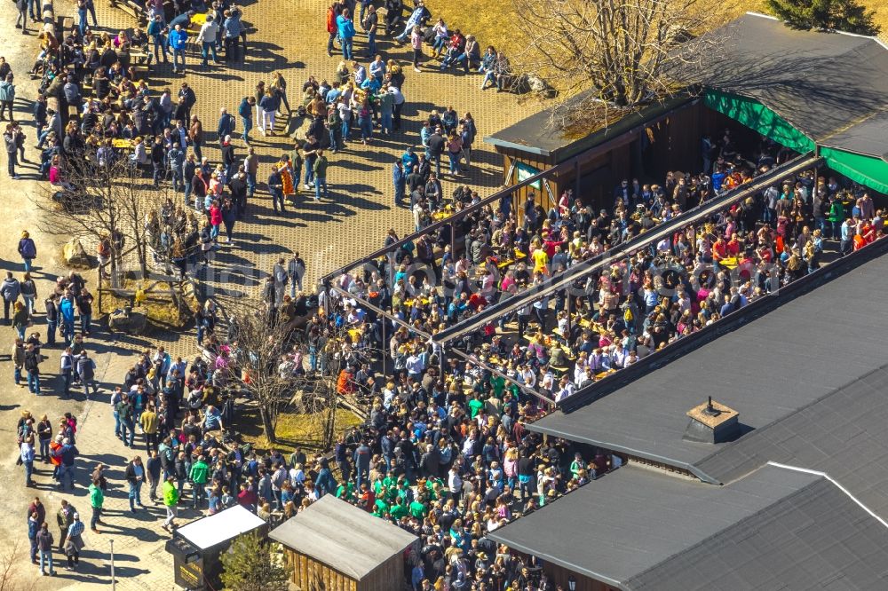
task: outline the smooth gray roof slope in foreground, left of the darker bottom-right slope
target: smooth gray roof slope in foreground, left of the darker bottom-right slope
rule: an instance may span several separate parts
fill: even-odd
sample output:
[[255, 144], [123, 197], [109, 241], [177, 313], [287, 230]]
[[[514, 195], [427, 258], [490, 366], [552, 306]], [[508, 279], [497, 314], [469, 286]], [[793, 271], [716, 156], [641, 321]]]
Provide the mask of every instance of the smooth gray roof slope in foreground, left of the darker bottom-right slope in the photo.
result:
[[630, 464], [488, 538], [619, 585], [816, 480], [767, 467], [722, 487]]

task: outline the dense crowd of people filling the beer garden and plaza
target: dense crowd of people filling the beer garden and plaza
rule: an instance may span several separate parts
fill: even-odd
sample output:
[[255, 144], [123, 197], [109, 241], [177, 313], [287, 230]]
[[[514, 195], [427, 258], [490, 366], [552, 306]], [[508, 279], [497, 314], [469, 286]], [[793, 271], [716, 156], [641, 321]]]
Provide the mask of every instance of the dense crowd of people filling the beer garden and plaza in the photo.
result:
[[[212, 264], [220, 235], [232, 244], [237, 221], [255, 207], [250, 200], [260, 185], [259, 160], [250, 131], [273, 137], [281, 130], [279, 115], [306, 118], [305, 139], [269, 169], [266, 188], [281, 213], [300, 191], [313, 193], [316, 201], [329, 199], [325, 154], [345, 150], [353, 135], [372, 145], [377, 133], [404, 133], [406, 75], [396, 60], [377, 51], [381, 27], [396, 41], [410, 43], [416, 73], [428, 66], [424, 47], [431, 45], [429, 58], [440, 59], [440, 70], [475, 70], [483, 74], [482, 89], [488, 83], [509, 88], [508, 59], [493, 47], [481, 51], [474, 35], [451, 30], [443, 19], [429, 26], [432, 14], [422, 0], [406, 19], [401, 0], [386, 0], [384, 22], [372, 3], [358, 4], [337, 0], [327, 9], [329, 55], [337, 43], [342, 53], [335, 79], [308, 76], [292, 109], [280, 73], [242, 98], [236, 114], [219, 106], [220, 162], [214, 163], [202, 154], [210, 134], [192, 113], [194, 89], [182, 82], [175, 94], [170, 89], [158, 94], [145, 76], [152, 64], [168, 60], [175, 73], [186, 72], [191, 37], [200, 45], [202, 68], [210, 67], [210, 59], [218, 63], [221, 51], [229, 63], [245, 59], [240, 9], [225, 1], [208, 6], [191, 0], [174, 3], [170, 14], [163, 2], [149, 0], [146, 28], [109, 35], [90, 28], [94, 10], [81, 0], [78, 26], [64, 39], [52, 28], [40, 34], [32, 74], [42, 77], [33, 112], [41, 172], [62, 192], [91, 170], [115, 167], [169, 186], [174, 196], [149, 213], [146, 232], [154, 253], [184, 277]], [[193, 23], [197, 14], [206, 16]], [[354, 55], [354, 39], [360, 38], [355, 23], [366, 35], [366, 64]], [[15, 96], [12, 72], [4, 66], [0, 59], [0, 104]], [[471, 167], [477, 132], [471, 113], [460, 115], [448, 105], [424, 114], [418, 135], [407, 136], [404, 154], [392, 165], [393, 201], [409, 208], [416, 231], [480, 201], [468, 185], [447, 191], [442, 185], [445, 177], [456, 182]], [[238, 139], [242, 154], [234, 145]], [[10, 123], [4, 140], [15, 177], [17, 154], [23, 157], [20, 128]], [[347, 296], [321, 291], [315, 301], [303, 290], [305, 261], [298, 253], [281, 258], [261, 288], [266, 308], [260, 313], [270, 324], [309, 319], [292, 341], [275, 343], [276, 366], [255, 366], [237, 327], [221, 321], [215, 303], [207, 300], [195, 322], [199, 355], [189, 361], [160, 346], [142, 351], [110, 393], [114, 435], [131, 453], [121, 467], [130, 511], [145, 510], [147, 485], [148, 501], [163, 507], [165, 516], [158, 518], [169, 532], [180, 508], [190, 517], [235, 504], [274, 526], [333, 494], [420, 537], [421, 548], [408, 556], [405, 581], [416, 591], [559, 588], [535, 557], [498, 547], [486, 534], [619, 468], [623, 460], [557, 438], [543, 441], [527, 430], [527, 422], [549, 412], [549, 402], [815, 271], [825, 256], [863, 248], [883, 235], [884, 211], [860, 187], [805, 171], [490, 320], [458, 343], [468, 359], [445, 358], [424, 335], [519, 298], [573, 265], [748, 183], [777, 160], [776, 147], [767, 143], [755, 154], [741, 154], [730, 132], [718, 141], [705, 138], [704, 146], [701, 172], [670, 173], [662, 185], [627, 178], [615, 187], [609, 207], [596, 208], [567, 190], [551, 209], [529, 196], [519, 217], [511, 196], [504, 198], [393, 249], [376, 268], [369, 264], [345, 273], [337, 287]], [[442, 172], [445, 155], [448, 170]], [[99, 261], [107, 260], [113, 240], [99, 241]], [[394, 231], [385, 237], [386, 246], [397, 241]], [[94, 396], [96, 366], [85, 344], [92, 296], [83, 277], [72, 272], [60, 278], [46, 298], [44, 343], [39, 331], [30, 332], [40, 319], [29, 275], [36, 245], [27, 232], [19, 253], [24, 273], [20, 279], [7, 273], [0, 286], [4, 319], [17, 332], [11, 351], [15, 382], [25, 374], [30, 391], [44, 393], [40, 351], [58, 335], [65, 345], [59, 366], [64, 395], [78, 386], [86, 398]], [[289, 455], [274, 448], [258, 453], [238, 445], [237, 384], [243, 372], [259, 371], [332, 380], [339, 396], [364, 409], [366, 421], [338, 437], [329, 453], [298, 448]], [[46, 414], [39, 420], [22, 414], [17, 441], [26, 485], [34, 485], [41, 472], [36, 462], [52, 468], [63, 491], [78, 485], [76, 429], [70, 413], [55, 424]], [[136, 451], [142, 445], [144, 454]], [[93, 533], [104, 525], [106, 495], [115, 494], [106, 469], [97, 465], [89, 478]], [[56, 540], [45, 513], [38, 499], [28, 507], [28, 539], [32, 561], [52, 575]], [[85, 524], [67, 500], [61, 501], [57, 523], [57, 548], [67, 568], [76, 569]]]

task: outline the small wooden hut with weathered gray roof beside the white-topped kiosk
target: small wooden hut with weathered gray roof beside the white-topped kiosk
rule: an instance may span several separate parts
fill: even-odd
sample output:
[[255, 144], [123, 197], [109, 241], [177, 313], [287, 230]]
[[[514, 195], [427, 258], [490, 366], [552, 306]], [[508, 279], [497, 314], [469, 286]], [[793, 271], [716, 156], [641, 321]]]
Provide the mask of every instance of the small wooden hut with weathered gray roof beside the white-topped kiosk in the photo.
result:
[[404, 551], [418, 538], [325, 495], [268, 534], [283, 544], [301, 591], [391, 591], [404, 581]]

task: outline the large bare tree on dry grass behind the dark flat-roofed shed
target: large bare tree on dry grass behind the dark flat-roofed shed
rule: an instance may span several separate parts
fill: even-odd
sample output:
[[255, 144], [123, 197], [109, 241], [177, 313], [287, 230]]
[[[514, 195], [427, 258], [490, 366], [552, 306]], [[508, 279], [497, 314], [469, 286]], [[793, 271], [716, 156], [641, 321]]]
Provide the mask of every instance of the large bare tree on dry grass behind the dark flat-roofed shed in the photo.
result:
[[[516, 0], [527, 50], [516, 70], [559, 91], [551, 125], [607, 124], [690, 81], [675, 61], [699, 59], [696, 36], [725, 10], [706, 0]], [[725, 6], [725, 3], [718, 4]]]

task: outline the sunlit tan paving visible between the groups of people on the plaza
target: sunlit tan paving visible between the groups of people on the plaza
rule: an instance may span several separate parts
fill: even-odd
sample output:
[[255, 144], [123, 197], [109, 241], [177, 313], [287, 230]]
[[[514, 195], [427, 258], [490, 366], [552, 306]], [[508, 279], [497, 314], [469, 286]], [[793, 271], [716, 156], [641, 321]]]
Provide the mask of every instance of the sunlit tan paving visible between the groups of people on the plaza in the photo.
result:
[[[104, 30], [115, 31], [131, 28], [135, 22], [125, 12], [111, 8], [107, 0], [97, 0], [99, 25]], [[198, 102], [194, 113], [201, 118], [208, 138], [204, 154], [210, 160], [218, 160], [215, 130], [221, 106], [226, 106], [231, 113], [236, 113], [237, 106], [243, 96], [250, 94], [259, 80], [269, 80], [272, 72], [281, 71], [289, 85], [289, 101], [291, 105], [298, 102], [301, 86], [308, 75], [321, 80], [332, 78], [339, 60], [335, 55], [329, 58], [326, 53], [327, 33], [325, 29], [326, 3], [322, 0], [299, 0], [297, 2], [275, 2], [274, 4], [258, 4], [255, 1], [242, 4], [244, 20], [256, 27], [256, 33], [250, 36], [246, 64], [235, 67], [217, 67], [210, 72], [195, 71], [189, 67], [184, 79], [197, 93]], [[71, 4], [57, 3], [59, 15], [73, 15]], [[445, 15], [447, 16], [447, 15]], [[36, 53], [36, 42], [33, 35], [21, 36], [12, 28], [14, 12], [7, 11], [0, 20], [0, 33], [7, 39], [23, 43], [8, 43], [5, 55], [17, 74], [17, 87], [20, 100], [17, 101], [17, 116], [26, 125], [30, 125], [29, 99], [36, 92], [36, 84], [28, 82], [24, 72], [31, 65]], [[355, 40], [355, 55], [365, 51], [365, 37], [358, 35]], [[385, 59], [399, 59], [403, 65], [409, 66], [408, 46], [396, 46], [385, 38], [377, 42], [379, 51]], [[189, 56], [189, 66], [198, 65], [194, 55]], [[394, 228], [400, 235], [412, 228], [412, 217], [406, 209], [395, 209], [393, 206], [391, 169], [394, 159], [398, 157], [408, 144], [419, 143], [418, 130], [421, 118], [432, 108], [442, 110], [448, 105], [456, 107], [457, 112], [464, 114], [470, 111], [478, 125], [479, 138], [483, 138], [506, 125], [531, 114], [533, 104], [519, 104], [517, 97], [496, 94], [494, 91], [482, 92], [478, 89], [479, 75], [465, 76], [462, 74], [440, 74], [424, 68], [422, 74], [416, 74], [411, 67], [405, 67], [407, 82], [404, 94], [408, 106], [404, 110], [404, 132], [391, 138], [379, 138], [371, 146], [361, 146], [353, 142], [348, 149], [337, 155], [330, 154], [331, 168], [328, 181], [332, 198], [315, 204], [307, 193], [297, 197], [295, 207], [284, 216], [275, 215], [270, 207], [267, 193], [259, 190], [253, 201], [250, 215], [245, 223], [235, 226], [234, 248], [224, 248], [218, 256], [218, 275], [213, 285], [225, 288], [227, 296], [242, 295], [250, 292], [258, 284], [258, 277], [267, 272], [277, 256], [286, 256], [292, 249], [298, 249], [308, 264], [309, 281], [315, 280], [325, 272], [361, 256], [382, 244], [385, 232]], [[174, 76], [171, 67], [155, 68], [150, 75], [149, 84], [153, 89], [165, 86], [175, 91], [183, 76]], [[175, 86], [174, 86], [175, 85]], [[21, 100], [26, 98], [26, 100]], [[285, 119], [285, 118], [284, 118]], [[240, 127], [240, 122], [238, 122]], [[279, 131], [284, 130], [279, 124]], [[29, 138], [33, 138], [34, 130], [26, 127]], [[261, 138], [255, 132], [254, 146], [257, 146], [261, 157], [259, 180], [268, 174], [268, 167], [276, 162], [277, 157], [292, 147], [288, 138], [280, 135], [275, 138]], [[31, 143], [30, 141], [28, 143]], [[246, 151], [242, 142], [238, 154], [242, 157]], [[28, 156], [35, 160], [36, 152], [28, 150]], [[502, 163], [499, 156], [488, 146], [478, 141], [472, 156], [473, 166], [470, 174], [453, 179], [444, 177], [444, 190], [449, 192], [455, 183], [467, 183], [480, 190], [482, 195], [489, 194], [502, 182]], [[56, 274], [64, 272], [58, 256], [59, 244], [52, 237], [39, 232], [36, 211], [28, 206], [28, 199], [40, 198], [43, 193], [41, 184], [33, 177], [33, 170], [25, 169], [30, 175], [29, 180], [13, 184], [5, 175], [0, 178], [0, 193], [4, 195], [4, 214], [11, 213], [15, 221], [4, 224], [4, 238], [0, 240], [0, 269], [20, 272], [14, 248], [18, 233], [28, 228], [35, 236], [41, 251], [39, 263], [41, 272], [36, 273], [38, 294], [44, 294], [50, 288], [50, 281]], [[28, 177], [26, 175], [26, 177]], [[94, 286], [95, 274], [89, 273]], [[39, 300], [38, 300], [39, 301]], [[40, 306], [38, 306], [39, 310]], [[42, 314], [38, 314], [36, 325], [42, 330]], [[0, 329], [0, 350], [9, 350], [12, 342], [12, 330]], [[78, 463], [78, 487], [75, 493], [62, 494], [51, 485], [49, 473], [40, 470], [36, 475], [36, 490], [23, 486], [23, 474], [20, 467], [14, 466], [16, 450], [9, 445], [4, 461], [0, 465], [0, 493], [4, 495], [6, 507], [0, 514], [0, 526], [10, 532], [8, 539], [19, 540], [25, 552], [16, 564], [20, 586], [28, 588], [34, 582], [32, 567], [27, 560], [27, 525], [24, 519], [28, 500], [38, 494], [48, 509], [48, 521], [51, 530], [58, 536], [54, 515], [59, 507], [59, 499], [64, 496], [75, 504], [75, 507], [86, 519], [89, 518], [89, 499], [84, 488], [88, 484], [88, 472], [96, 462], [102, 461], [112, 467], [109, 481], [112, 491], [107, 495], [105, 507], [109, 524], [104, 533], [96, 535], [86, 532], [85, 548], [81, 556], [81, 567], [75, 573], [61, 570], [60, 555], [56, 556], [59, 567], [57, 578], [40, 579], [39, 587], [55, 588], [92, 588], [108, 587], [110, 583], [109, 544], [115, 540], [115, 574], [120, 589], [170, 589], [173, 587], [171, 557], [163, 549], [163, 542], [169, 535], [160, 528], [163, 514], [162, 508], [153, 508], [147, 502], [147, 490], [143, 491], [143, 502], [147, 510], [132, 514], [129, 511], [126, 490], [123, 485], [123, 469], [130, 459], [130, 450], [121, 445], [113, 435], [113, 417], [108, 402], [107, 392], [113, 388], [123, 376], [131, 357], [131, 351], [155, 343], [165, 343], [173, 354], [186, 357], [194, 356], [194, 339], [191, 335], [152, 334], [145, 338], [121, 337], [99, 333], [88, 343], [89, 349], [95, 353], [97, 378], [102, 382], [103, 389], [99, 397], [83, 402], [81, 395], [76, 400], [61, 400], [58, 396], [59, 381], [55, 376], [58, 368], [58, 349], [47, 349], [44, 352], [49, 359], [44, 363], [44, 390], [48, 394], [41, 398], [28, 395], [27, 390], [12, 385], [2, 390], [0, 398], [0, 433], [4, 440], [10, 441], [14, 436], [15, 421], [20, 411], [27, 408], [37, 417], [49, 414], [54, 421], [60, 414], [70, 411], [79, 416], [77, 446], [82, 458]], [[4, 358], [5, 359], [5, 358]], [[0, 383], [12, 384], [12, 366], [4, 361], [0, 364]], [[137, 438], [137, 445], [139, 444]], [[144, 447], [139, 450], [144, 456]], [[41, 469], [42, 465], [37, 465]], [[185, 520], [197, 516], [194, 512], [183, 511]], [[8, 551], [10, 545], [4, 545]], [[20, 548], [21, 549], [21, 548]]]

